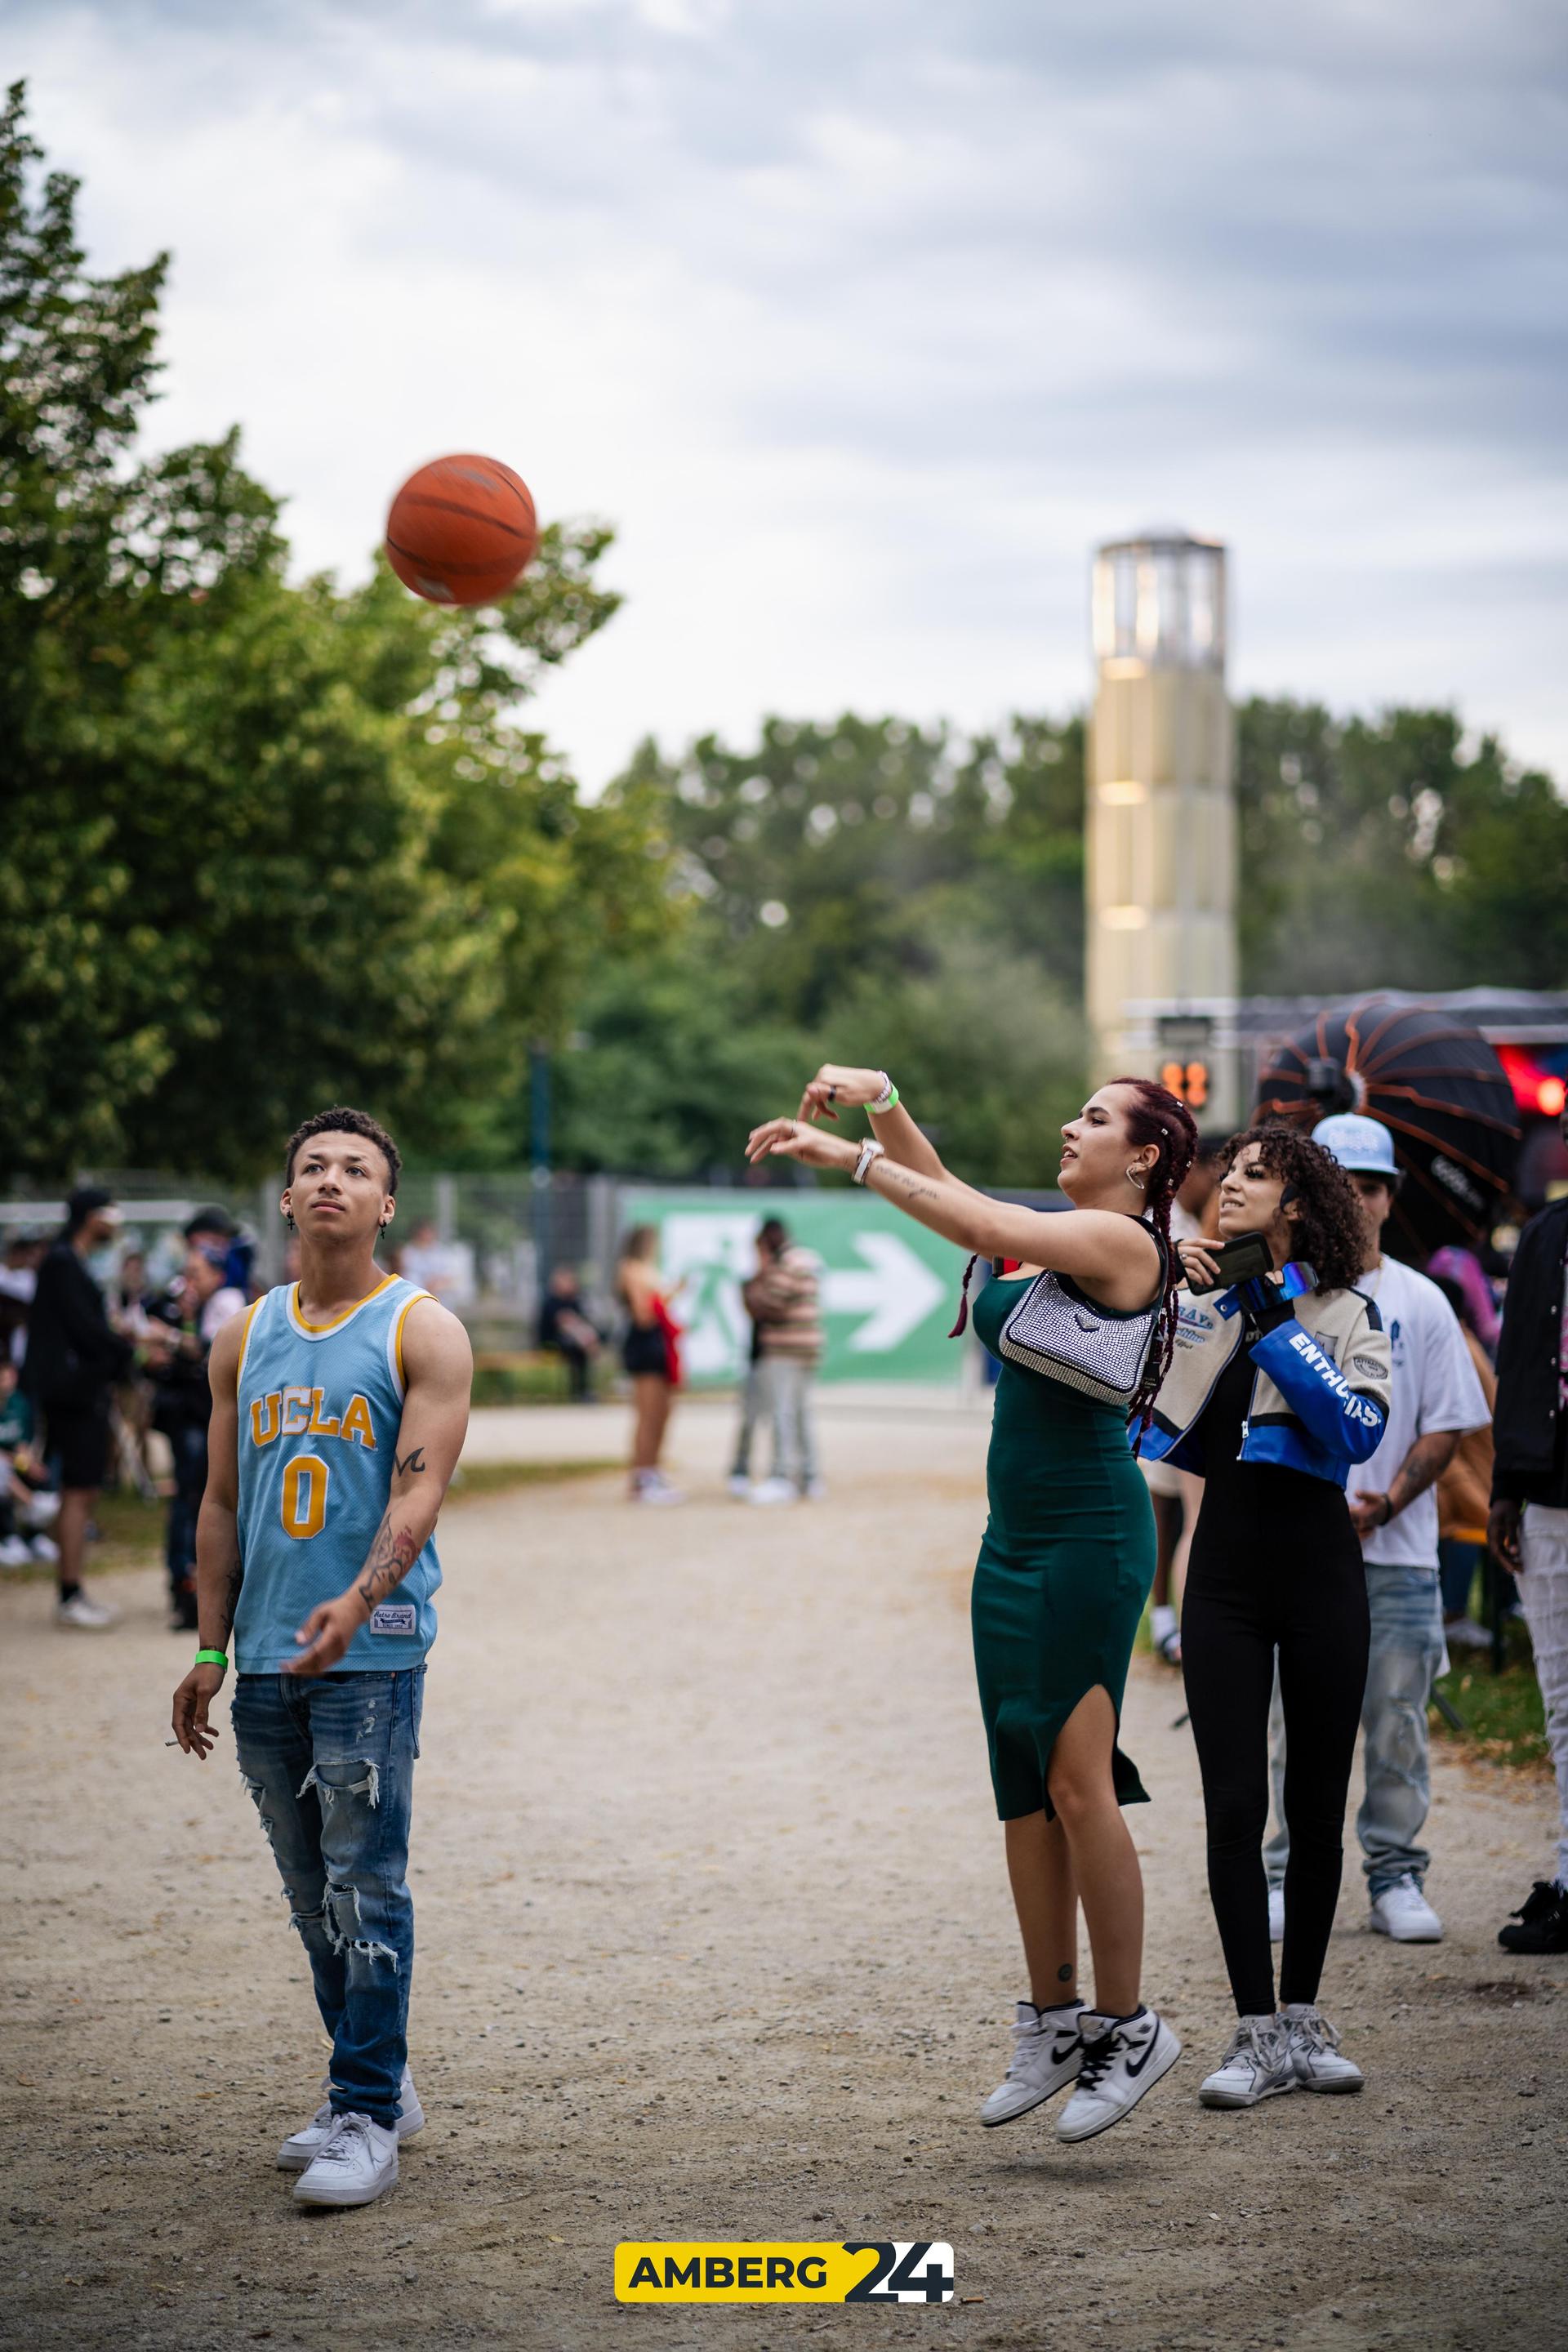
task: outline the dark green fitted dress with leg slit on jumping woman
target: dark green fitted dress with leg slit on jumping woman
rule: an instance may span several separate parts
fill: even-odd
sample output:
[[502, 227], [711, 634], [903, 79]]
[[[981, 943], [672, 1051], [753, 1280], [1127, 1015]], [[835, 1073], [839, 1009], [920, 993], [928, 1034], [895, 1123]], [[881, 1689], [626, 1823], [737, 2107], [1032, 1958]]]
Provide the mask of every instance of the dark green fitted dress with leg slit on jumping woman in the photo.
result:
[[[976, 1331], [992, 1355], [1030, 1279], [992, 1277], [976, 1298]], [[997, 1813], [1051, 1816], [1051, 1750], [1077, 1703], [1105, 1684], [1121, 1722], [1126, 1665], [1154, 1581], [1154, 1510], [1126, 1416], [1006, 1357], [985, 1491], [971, 1623]], [[1114, 1783], [1119, 1804], [1147, 1802], [1121, 1748]]]

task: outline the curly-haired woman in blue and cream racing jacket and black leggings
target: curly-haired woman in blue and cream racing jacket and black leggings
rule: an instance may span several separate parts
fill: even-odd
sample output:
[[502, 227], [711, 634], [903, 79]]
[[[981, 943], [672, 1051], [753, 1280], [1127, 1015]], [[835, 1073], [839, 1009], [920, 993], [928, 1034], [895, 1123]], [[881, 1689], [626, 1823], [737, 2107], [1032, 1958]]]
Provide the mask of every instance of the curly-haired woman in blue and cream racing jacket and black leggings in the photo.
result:
[[[1182, 1242], [1187, 1284], [1147, 1451], [1204, 1472], [1182, 1670], [1204, 1776], [1208, 1891], [1237, 2030], [1199, 2098], [1359, 2091], [1316, 2009], [1340, 1893], [1345, 1797], [1366, 1686], [1368, 1611], [1345, 1482], [1389, 1411], [1389, 1343], [1356, 1289], [1366, 1225], [1345, 1169], [1293, 1127], [1225, 1148], [1220, 1244], [1262, 1235], [1274, 1277], [1220, 1289], [1215, 1242]], [[1286, 1940], [1274, 2006], [1262, 1837], [1274, 1653], [1288, 1726]]]

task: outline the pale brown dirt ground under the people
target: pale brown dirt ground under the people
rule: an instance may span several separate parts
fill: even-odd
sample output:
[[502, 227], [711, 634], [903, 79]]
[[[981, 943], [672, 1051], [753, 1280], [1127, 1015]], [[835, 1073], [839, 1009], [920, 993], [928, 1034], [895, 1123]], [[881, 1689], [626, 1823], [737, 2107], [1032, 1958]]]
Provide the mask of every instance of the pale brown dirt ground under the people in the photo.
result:
[[[165, 1748], [188, 1639], [160, 1581], [103, 1637], [0, 1592], [0, 2340], [35, 2347], [1422, 2345], [1568, 2340], [1568, 1962], [1495, 1931], [1549, 1856], [1542, 1783], [1436, 1764], [1441, 1945], [1366, 1933], [1324, 2006], [1356, 2100], [1211, 2114], [1227, 2034], [1180, 1684], [1135, 1661], [1154, 1804], [1145, 1990], [1187, 2051], [1079, 2150], [983, 2133], [1018, 1955], [969, 1665], [980, 1414], [837, 1406], [832, 1498], [745, 1510], [686, 1406], [682, 1510], [611, 1477], [470, 1498], [414, 1811], [428, 2129], [378, 2206], [273, 2166], [322, 2037], [228, 1731]], [[487, 1416], [475, 1454], [614, 1454], [618, 1409]], [[961, 2300], [635, 2310], [611, 2249], [950, 2239]]]

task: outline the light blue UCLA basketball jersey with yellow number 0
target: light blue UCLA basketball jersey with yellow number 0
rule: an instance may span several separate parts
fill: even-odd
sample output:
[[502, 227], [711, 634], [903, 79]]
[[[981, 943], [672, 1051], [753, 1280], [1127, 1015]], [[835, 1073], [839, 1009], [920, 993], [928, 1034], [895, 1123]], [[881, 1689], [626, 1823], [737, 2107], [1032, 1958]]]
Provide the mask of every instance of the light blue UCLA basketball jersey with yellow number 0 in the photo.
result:
[[[357, 1578], [393, 1486], [402, 1421], [402, 1329], [416, 1298], [388, 1275], [329, 1324], [299, 1312], [284, 1282], [249, 1310], [240, 1343], [240, 1562], [235, 1672], [277, 1675], [320, 1602]], [[435, 1642], [435, 1541], [331, 1672], [418, 1665]]]

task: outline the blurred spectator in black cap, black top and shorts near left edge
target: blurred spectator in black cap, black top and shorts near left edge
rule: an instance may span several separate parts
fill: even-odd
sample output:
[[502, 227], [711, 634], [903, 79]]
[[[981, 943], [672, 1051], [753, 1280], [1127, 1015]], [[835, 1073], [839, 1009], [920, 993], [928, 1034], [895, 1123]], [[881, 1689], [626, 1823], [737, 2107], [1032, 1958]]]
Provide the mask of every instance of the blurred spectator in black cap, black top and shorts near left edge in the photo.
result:
[[28, 1315], [21, 1385], [45, 1421], [45, 1458], [59, 1465], [59, 1606], [56, 1625], [99, 1632], [115, 1611], [82, 1590], [87, 1522], [108, 1465], [108, 1406], [132, 1362], [132, 1343], [108, 1322], [103, 1294], [87, 1270], [94, 1249], [113, 1242], [120, 1211], [101, 1185], [66, 1202], [66, 1225], [38, 1268]]

